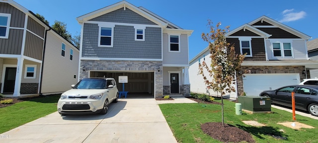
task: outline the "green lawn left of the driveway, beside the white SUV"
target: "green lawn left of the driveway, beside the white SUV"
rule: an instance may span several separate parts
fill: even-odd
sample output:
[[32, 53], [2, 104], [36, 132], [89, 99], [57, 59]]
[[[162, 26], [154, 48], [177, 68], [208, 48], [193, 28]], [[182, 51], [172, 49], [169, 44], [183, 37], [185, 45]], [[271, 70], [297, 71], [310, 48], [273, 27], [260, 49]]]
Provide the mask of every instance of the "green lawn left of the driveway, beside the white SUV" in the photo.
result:
[[34, 98], [0, 108], [0, 134], [57, 111], [60, 96]]

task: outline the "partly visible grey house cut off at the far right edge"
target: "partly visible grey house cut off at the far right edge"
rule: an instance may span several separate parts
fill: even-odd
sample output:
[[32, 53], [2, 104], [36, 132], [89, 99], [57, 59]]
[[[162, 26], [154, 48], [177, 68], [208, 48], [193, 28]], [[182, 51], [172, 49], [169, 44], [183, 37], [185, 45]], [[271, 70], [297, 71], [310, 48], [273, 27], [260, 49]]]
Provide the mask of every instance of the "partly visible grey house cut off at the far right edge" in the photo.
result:
[[[307, 50], [310, 60], [318, 61], [318, 39], [307, 41]], [[309, 70], [309, 73], [310, 77], [308, 78], [318, 77], [318, 70]]]

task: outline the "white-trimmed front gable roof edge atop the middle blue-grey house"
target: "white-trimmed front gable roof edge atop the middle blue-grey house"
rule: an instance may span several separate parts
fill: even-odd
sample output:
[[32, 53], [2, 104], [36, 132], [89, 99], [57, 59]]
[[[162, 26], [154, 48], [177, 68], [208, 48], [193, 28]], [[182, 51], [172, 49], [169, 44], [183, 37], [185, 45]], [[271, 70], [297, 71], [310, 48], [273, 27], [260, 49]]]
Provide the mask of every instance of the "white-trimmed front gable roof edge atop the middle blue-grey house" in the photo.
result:
[[119, 8], [123, 8], [124, 9], [127, 7], [129, 8], [130, 10], [142, 15], [143, 17], [149, 19], [150, 21], [158, 24], [159, 26], [161, 27], [164, 27], [166, 28], [166, 26], [168, 25], [168, 23], [162, 21], [161, 19], [159, 19], [158, 17], [155, 17], [157, 15], [152, 15], [138, 7], [136, 7], [135, 5], [123, 0], [123, 1], [120, 1], [120, 2], [117, 2], [115, 4], [112, 4], [112, 5], [109, 5], [109, 6], [106, 6], [104, 8], [101, 8], [101, 9], [98, 9], [98, 10], [95, 10], [95, 11], [92, 11], [90, 13], [87, 13], [87, 14], [84, 14], [82, 16], [79, 16], [77, 17], [76, 19], [78, 20], [78, 22], [81, 24], [83, 23], [84, 21], [87, 21], [87, 20], [90, 20], [92, 18], [95, 18], [95, 17], [98, 17], [98, 16], [101, 16], [101, 15], [104, 15], [106, 13], [109, 13], [109, 12], [112, 12], [114, 10], [117, 10]]

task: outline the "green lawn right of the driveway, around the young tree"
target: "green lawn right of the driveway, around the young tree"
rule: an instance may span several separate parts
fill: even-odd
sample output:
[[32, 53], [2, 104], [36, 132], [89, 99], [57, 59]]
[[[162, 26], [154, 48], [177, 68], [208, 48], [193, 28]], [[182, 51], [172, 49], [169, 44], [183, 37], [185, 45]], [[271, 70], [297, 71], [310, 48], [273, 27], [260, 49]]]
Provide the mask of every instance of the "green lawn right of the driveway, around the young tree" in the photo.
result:
[[[221, 100], [214, 100], [221, 102]], [[220, 143], [204, 134], [200, 125], [207, 122], [222, 122], [221, 105], [182, 103], [159, 104], [178, 143]], [[249, 132], [256, 143], [318, 143], [317, 120], [296, 115], [297, 122], [315, 127], [314, 129], [294, 130], [277, 123], [293, 122], [292, 113], [272, 108], [273, 114], [236, 115], [235, 102], [224, 100], [224, 121]], [[241, 121], [254, 120], [265, 127], [253, 127]], [[279, 130], [284, 130], [280, 132]], [[287, 140], [275, 139], [286, 137]]]

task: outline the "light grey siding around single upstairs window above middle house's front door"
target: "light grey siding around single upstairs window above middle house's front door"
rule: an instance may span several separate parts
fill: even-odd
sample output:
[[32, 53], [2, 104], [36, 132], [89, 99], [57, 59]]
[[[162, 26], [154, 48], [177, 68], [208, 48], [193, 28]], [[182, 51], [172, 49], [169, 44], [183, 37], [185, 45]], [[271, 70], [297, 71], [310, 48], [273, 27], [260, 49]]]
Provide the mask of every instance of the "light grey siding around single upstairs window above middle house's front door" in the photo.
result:
[[180, 36], [180, 52], [169, 52], [169, 41], [168, 33], [162, 34], [162, 43], [163, 43], [163, 62], [162, 64], [175, 64], [175, 65], [188, 65], [188, 35], [181, 34]]

